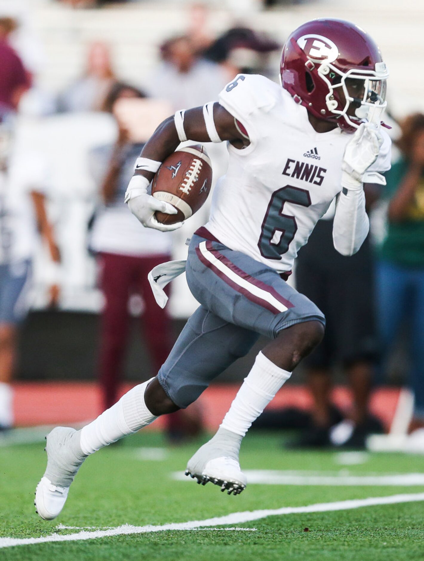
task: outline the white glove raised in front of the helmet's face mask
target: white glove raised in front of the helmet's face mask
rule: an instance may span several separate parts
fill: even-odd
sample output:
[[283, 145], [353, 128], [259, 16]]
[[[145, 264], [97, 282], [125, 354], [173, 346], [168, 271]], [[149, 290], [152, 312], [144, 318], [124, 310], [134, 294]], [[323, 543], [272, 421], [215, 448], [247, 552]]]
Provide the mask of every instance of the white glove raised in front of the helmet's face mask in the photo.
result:
[[342, 187], [362, 188], [363, 174], [377, 159], [382, 142], [379, 126], [370, 122], [361, 123], [344, 150]]

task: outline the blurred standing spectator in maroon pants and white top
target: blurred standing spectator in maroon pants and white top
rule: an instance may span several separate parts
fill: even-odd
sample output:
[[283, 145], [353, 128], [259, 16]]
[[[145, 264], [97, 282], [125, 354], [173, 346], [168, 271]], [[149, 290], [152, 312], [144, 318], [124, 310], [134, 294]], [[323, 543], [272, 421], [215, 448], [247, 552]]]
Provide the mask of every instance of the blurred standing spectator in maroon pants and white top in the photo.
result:
[[[104, 109], [113, 113], [118, 100], [144, 97], [141, 91], [118, 83], [110, 90]], [[156, 305], [148, 273], [154, 266], [170, 259], [172, 234], [143, 228], [128, 211], [124, 195], [143, 144], [131, 138], [119, 119], [117, 124], [115, 144], [100, 146], [92, 153], [93, 172], [102, 198], [90, 245], [98, 258], [100, 286], [105, 297], [100, 337], [103, 408], [112, 406], [118, 397], [131, 295], [142, 295], [144, 301], [142, 321], [152, 364], [151, 371], [142, 374], [146, 378], [155, 375], [170, 350], [169, 318], [167, 312]]]

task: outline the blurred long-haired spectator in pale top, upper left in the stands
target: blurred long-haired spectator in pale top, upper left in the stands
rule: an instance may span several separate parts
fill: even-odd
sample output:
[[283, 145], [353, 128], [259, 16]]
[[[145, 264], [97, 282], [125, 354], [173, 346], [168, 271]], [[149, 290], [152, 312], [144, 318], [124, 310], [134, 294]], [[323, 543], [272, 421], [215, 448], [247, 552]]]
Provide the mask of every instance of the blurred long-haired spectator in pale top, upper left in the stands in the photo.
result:
[[87, 50], [84, 76], [59, 95], [58, 111], [100, 111], [115, 82], [108, 45], [92, 43]]

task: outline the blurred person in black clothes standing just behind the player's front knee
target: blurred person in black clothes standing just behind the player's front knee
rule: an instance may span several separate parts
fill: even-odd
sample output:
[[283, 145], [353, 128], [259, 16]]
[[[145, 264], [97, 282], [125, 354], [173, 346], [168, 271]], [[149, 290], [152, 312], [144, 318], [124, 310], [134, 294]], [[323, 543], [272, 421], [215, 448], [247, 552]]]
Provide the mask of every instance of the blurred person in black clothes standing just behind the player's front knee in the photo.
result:
[[[369, 204], [374, 198], [371, 187], [366, 194]], [[381, 430], [368, 418], [377, 358], [370, 238], [351, 257], [340, 255], [333, 244], [333, 215], [330, 207], [296, 261], [296, 288], [324, 312], [326, 328], [323, 341], [304, 361], [313, 406], [310, 427], [293, 443], [295, 447], [362, 448], [367, 433]], [[331, 370], [336, 365], [347, 374], [353, 397], [345, 421], [331, 403]]]

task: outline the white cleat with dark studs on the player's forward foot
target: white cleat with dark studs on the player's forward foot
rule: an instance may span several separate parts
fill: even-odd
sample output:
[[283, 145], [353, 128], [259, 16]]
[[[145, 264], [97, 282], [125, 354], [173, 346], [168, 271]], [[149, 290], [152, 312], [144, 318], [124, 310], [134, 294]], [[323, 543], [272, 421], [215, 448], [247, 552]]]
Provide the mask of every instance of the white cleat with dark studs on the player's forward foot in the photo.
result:
[[210, 440], [188, 461], [185, 473], [196, 477], [199, 484], [206, 485], [211, 481], [219, 485], [221, 491], [239, 495], [246, 489], [247, 478], [240, 469], [238, 454], [232, 456], [223, 456], [222, 449], [217, 449], [215, 442]]

